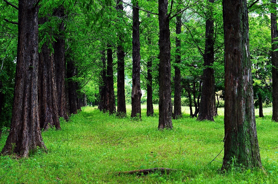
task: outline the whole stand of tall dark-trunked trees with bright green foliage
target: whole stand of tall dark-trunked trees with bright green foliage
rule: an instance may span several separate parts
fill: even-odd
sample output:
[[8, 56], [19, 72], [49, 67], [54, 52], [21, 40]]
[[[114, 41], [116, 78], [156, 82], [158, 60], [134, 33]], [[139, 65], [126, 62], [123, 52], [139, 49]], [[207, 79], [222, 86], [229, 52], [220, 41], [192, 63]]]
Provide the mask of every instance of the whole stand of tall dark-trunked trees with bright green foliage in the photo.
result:
[[[99, 93], [101, 111], [126, 116], [125, 77], [130, 76], [131, 117], [141, 117], [142, 86], [147, 90], [148, 116], [153, 115], [153, 94], [159, 98], [159, 129], [171, 129], [172, 116], [180, 118], [182, 94], [190, 101], [193, 95], [193, 117], [199, 113], [198, 120], [213, 120], [217, 115], [215, 92], [223, 90], [222, 169], [229, 167], [231, 157], [237, 157], [237, 161], [247, 167], [261, 166], [253, 78], [262, 108], [263, 101], [271, 101], [269, 90], [262, 89], [270, 84], [268, 71], [272, 68], [272, 119], [278, 121], [276, 1], [272, 1], [273, 7], [266, 8], [258, 1], [247, 5], [245, 0], [224, 0], [223, 14], [219, 11], [222, 4], [213, 0], [178, 0], [171, 1], [170, 6], [167, 0], [159, 0], [158, 5], [154, 1], [22, 0], [18, 7], [15, 2], [3, 1], [6, 13], [2, 21], [3, 39], [14, 38], [12, 35], [16, 34], [18, 39], [17, 47], [15, 43], [10, 46], [14, 53], [17, 51], [16, 57], [9, 52], [10, 59], [16, 58], [17, 62], [11, 131], [2, 154], [14, 152], [27, 157], [37, 146], [44, 148], [41, 129], [51, 126], [60, 129], [58, 117], [67, 120], [68, 114], [75, 114], [83, 104], [78, 93], [86, 90], [91, 99]], [[132, 7], [132, 18], [124, 5]], [[266, 11], [272, 12], [270, 67], [266, 65], [270, 57], [264, 55], [270, 51], [269, 47], [261, 48], [264, 45], [255, 43], [250, 54], [248, 9], [261, 15], [251, 19], [255, 28], [259, 27], [258, 21], [268, 20], [264, 16]], [[254, 36], [252, 31], [250, 35]], [[117, 58], [116, 62], [113, 58]], [[115, 73], [117, 79], [114, 79]], [[173, 78], [171, 73], [174, 73]], [[86, 101], [85, 94], [83, 99]]]

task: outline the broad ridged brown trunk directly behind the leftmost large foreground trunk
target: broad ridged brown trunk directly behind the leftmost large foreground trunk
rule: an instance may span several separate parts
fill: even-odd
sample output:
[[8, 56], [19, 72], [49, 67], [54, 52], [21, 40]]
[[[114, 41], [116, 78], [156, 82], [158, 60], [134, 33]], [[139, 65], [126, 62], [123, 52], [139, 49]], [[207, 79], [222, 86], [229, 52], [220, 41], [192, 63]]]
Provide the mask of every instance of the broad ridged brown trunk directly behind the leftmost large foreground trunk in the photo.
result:
[[[47, 18], [40, 18], [39, 24], [44, 24]], [[53, 53], [47, 43], [44, 43], [39, 53], [38, 66], [38, 105], [41, 129], [55, 127], [61, 129], [57, 106], [56, 75]]]

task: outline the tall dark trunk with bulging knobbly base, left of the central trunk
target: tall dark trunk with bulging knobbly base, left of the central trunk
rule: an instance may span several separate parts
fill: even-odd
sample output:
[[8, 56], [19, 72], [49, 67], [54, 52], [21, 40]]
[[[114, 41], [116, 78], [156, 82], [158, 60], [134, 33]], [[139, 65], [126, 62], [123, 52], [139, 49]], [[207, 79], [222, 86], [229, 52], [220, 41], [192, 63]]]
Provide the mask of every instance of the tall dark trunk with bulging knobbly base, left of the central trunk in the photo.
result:
[[[133, 3], [138, 7], [138, 2]], [[132, 92], [131, 92], [131, 118], [141, 118], [141, 86], [140, 86], [140, 33], [139, 9], [133, 8], [132, 25]]]

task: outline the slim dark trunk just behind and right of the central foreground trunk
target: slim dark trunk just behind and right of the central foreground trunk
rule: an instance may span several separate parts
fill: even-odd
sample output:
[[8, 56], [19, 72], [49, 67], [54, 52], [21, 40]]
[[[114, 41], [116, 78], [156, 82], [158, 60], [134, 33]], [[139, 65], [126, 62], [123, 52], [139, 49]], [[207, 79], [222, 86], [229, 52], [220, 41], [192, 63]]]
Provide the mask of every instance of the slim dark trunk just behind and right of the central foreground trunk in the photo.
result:
[[[180, 0], [177, 1], [179, 3]], [[180, 12], [181, 9], [177, 10], [177, 13]], [[182, 14], [178, 14], [176, 16], [176, 34], [181, 33], [182, 29]], [[176, 37], [176, 57], [175, 63], [180, 64], [181, 60], [181, 51], [180, 51], [180, 39]], [[175, 92], [174, 92], [174, 112], [173, 112], [173, 119], [178, 119], [182, 116], [182, 106], [181, 106], [181, 85], [180, 85], [180, 68], [175, 66]]]

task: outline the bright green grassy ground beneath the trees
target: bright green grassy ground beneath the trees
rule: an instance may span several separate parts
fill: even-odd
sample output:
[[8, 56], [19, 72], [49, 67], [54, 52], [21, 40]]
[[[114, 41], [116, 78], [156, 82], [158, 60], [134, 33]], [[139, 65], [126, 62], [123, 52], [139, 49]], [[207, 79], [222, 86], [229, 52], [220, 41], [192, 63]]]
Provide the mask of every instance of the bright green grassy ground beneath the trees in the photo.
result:
[[[61, 130], [43, 131], [47, 151], [38, 149], [29, 158], [0, 156], [0, 183], [278, 183], [278, 123], [271, 121], [271, 108], [258, 117], [257, 133], [262, 170], [247, 170], [234, 164], [231, 172], [220, 173], [224, 138], [224, 109], [215, 122], [189, 117], [173, 120], [173, 130], [158, 130], [158, 106], [155, 116], [142, 121], [118, 119], [96, 107], [84, 107], [61, 122]], [[129, 116], [131, 106], [127, 106]], [[3, 148], [8, 132], [0, 140]], [[217, 154], [220, 155], [211, 162]], [[235, 160], [236, 161], [236, 160]], [[211, 164], [209, 164], [211, 162]], [[117, 175], [118, 171], [147, 168], [174, 168], [147, 176]]]

